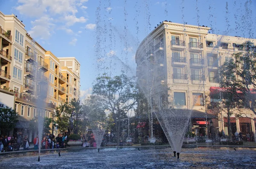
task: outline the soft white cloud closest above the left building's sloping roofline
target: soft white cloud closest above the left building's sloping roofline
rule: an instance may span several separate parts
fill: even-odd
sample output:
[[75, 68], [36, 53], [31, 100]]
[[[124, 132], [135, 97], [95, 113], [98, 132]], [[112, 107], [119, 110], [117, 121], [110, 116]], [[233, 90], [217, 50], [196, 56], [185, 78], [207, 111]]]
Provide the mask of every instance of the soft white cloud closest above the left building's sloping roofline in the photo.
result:
[[28, 34], [30, 34], [34, 38], [40, 39], [49, 39], [51, 34], [53, 33], [54, 24], [52, 23], [53, 19], [46, 16], [41, 17], [38, 20], [31, 21], [33, 27]]

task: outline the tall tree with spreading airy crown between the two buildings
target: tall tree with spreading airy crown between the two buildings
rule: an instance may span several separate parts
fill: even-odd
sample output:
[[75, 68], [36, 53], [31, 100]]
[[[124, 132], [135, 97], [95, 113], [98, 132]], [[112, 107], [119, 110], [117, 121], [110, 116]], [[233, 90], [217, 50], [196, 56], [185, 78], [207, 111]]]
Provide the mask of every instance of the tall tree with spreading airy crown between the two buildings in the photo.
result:
[[120, 120], [136, 103], [137, 88], [135, 77], [128, 77], [124, 73], [113, 78], [103, 74], [96, 78], [93, 85], [93, 96], [99, 106], [113, 114], [116, 124], [116, 141], [119, 145]]

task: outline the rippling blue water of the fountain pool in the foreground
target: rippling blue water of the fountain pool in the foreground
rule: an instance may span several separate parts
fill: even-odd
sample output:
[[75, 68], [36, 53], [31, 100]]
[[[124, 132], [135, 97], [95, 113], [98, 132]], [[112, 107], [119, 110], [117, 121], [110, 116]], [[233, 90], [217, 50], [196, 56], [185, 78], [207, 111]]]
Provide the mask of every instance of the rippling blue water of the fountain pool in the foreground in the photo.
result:
[[[38, 154], [28, 153], [18, 159], [11, 154], [1, 155], [1, 168], [99, 168], [99, 169], [159, 169], [159, 168], [256, 168], [256, 149], [199, 147], [181, 149], [181, 158], [173, 157], [166, 147], [135, 147], [65, 150]], [[17, 155], [17, 154], [15, 154]]]

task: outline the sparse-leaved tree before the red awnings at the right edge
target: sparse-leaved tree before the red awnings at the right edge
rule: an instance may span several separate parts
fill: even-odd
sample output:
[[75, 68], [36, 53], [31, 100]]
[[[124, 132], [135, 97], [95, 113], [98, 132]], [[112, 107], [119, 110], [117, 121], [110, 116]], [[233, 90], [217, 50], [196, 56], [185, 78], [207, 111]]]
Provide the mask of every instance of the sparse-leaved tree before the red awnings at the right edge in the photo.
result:
[[[253, 43], [244, 42], [241, 49], [246, 52], [233, 54], [229, 62], [219, 68], [221, 87], [221, 109], [227, 113], [228, 132], [231, 138], [230, 116], [240, 107], [248, 108], [256, 114], [256, 95], [250, 85], [256, 87], [256, 53]], [[240, 111], [237, 111], [240, 112]], [[240, 116], [237, 113], [236, 116]]]

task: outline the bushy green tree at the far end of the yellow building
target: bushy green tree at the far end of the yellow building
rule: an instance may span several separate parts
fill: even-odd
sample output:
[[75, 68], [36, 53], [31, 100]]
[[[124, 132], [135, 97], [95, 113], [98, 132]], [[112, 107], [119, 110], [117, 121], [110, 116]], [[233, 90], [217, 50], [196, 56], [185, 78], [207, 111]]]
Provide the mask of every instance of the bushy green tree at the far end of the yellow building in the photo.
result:
[[75, 133], [78, 134], [79, 126], [85, 118], [85, 112], [83, 105], [80, 104], [80, 100], [72, 99], [70, 102], [61, 104], [56, 108], [55, 113], [56, 125], [58, 129], [68, 131], [68, 135]]

